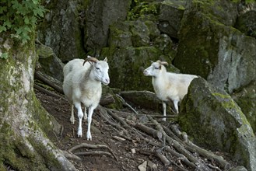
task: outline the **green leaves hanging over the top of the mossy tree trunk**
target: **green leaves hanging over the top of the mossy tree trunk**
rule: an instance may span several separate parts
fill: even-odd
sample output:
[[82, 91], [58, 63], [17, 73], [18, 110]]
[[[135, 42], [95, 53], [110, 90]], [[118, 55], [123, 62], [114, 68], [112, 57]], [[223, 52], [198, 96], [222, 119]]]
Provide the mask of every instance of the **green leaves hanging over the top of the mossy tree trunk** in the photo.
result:
[[30, 40], [37, 20], [46, 11], [40, 0], [1, 0], [0, 6], [0, 33], [10, 33], [23, 44]]

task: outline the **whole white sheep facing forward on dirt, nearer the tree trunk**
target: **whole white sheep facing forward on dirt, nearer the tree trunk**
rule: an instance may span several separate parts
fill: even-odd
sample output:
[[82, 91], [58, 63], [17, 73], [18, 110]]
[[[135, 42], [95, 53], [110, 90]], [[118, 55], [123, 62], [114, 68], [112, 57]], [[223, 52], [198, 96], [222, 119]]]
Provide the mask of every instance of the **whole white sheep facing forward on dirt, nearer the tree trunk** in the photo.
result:
[[[110, 83], [108, 76], [107, 58], [99, 61], [96, 58], [89, 57], [86, 60], [73, 59], [64, 66], [63, 91], [69, 103], [71, 103], [70, 121], [74, 124], [74, 106], [78, 111], [79, 127], [78, 137], [82, 138], [82, 117], [87, 119], [86, 108], [88, 108], [88, 130], [87, 140], [92, 140], [90, 125], [93, 116], [93, 110], [100, 102], [102, 87]], [[81, 103], [85, 106], [85, 112], [82, 113]]]

